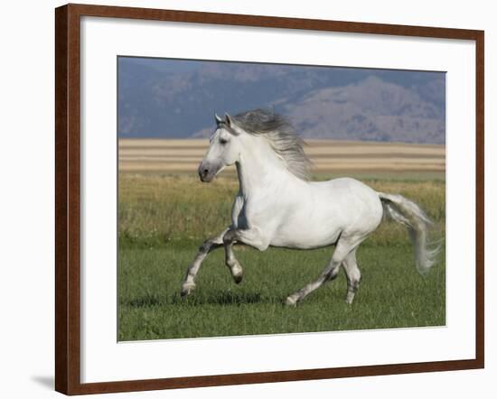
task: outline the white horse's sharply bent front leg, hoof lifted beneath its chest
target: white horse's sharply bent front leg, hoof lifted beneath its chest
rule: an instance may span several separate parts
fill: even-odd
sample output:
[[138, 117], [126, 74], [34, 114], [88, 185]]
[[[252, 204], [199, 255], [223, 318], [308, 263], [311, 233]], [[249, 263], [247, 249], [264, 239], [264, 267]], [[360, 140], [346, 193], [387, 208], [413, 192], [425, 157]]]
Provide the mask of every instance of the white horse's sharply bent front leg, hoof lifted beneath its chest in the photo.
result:
[[240, 283], [243, 278], [243, 268], [235, 257], [233, 244], [242, 243], [253, 246], [259, 251], [267, 249], [267, 240], [262, 237], [257, 228], [230, 229], [223, 237], [224, 250], [226, 255], [226, 265], [230, 268], [231, 275], [235, 283]]

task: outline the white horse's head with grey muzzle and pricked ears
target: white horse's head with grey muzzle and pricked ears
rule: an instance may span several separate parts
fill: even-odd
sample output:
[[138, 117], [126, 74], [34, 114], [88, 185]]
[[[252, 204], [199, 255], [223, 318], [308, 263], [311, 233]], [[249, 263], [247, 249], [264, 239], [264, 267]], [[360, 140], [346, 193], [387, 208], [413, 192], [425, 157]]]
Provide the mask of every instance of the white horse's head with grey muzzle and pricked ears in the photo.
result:
[[209, 150], [199, 165], [199, 176], [203, 182], [211, 182], [224, 169], [239, 161], [241, 143], [239, 129], [226, 114], [224, 120], [215, 116], [217, 128], [211, 135]]

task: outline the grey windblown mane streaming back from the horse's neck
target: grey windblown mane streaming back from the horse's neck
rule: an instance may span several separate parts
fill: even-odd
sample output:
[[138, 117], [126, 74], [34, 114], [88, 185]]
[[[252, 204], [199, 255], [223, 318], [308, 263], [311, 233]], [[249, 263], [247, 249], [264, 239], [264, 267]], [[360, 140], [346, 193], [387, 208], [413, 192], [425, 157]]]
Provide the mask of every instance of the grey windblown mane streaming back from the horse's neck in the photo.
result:
[[264, 135], [283, 161], [289, 172], [302, 180], [309, 180], [311, 162], [305, 155], [304, 140], [285, 116], [267, 109], [252, 109], [232, 117], [235, 125], [251, 135]]

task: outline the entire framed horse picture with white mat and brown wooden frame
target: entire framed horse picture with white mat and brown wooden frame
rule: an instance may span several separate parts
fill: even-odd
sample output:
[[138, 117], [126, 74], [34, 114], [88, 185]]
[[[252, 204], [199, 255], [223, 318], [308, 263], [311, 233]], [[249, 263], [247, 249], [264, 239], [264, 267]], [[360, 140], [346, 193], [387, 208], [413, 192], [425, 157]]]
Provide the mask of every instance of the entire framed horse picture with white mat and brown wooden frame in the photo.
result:
[[482, 31], [55, 28], [57, 391], [483, 367]]

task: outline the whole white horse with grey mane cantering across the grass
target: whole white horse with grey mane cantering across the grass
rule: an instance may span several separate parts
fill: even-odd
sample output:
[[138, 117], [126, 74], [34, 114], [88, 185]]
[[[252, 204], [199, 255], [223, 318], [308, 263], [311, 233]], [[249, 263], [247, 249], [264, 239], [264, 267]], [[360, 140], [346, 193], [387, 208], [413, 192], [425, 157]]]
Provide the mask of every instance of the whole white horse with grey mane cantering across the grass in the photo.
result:
[[295, 305], [333, 280], [341, 266], [347, 275], [346, 302], [352, 303], [361, 281], [357, 248], [380, 225], [384, 214], [408, 227], [420, 273], [426, 273], [434, 263], [436, 250], [427, 249], [431, 222], [414, 202], [349, 178], [308, 181], [310, 162], [302, 141], [282, 116], [256, 109], [226, 115], [224, 120], [216, 116], [216, 123], [198, 172], [202, 181], [210, 182], [226, 166], [236, 164], [239, 192], [230, 227], [204, 241], [189, 266], [183, 296], [195, 288], [202, 261], [220, 246], [224, 246], [226, 264], [239, 283], [243, 270], [233, 253], [235, 243], [259, 251], [268, 246], [309, 249], [334, 245], [323, 273], [288, 296], [286, 304]]

